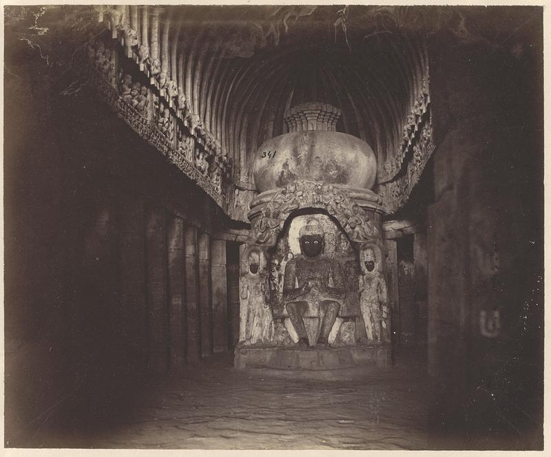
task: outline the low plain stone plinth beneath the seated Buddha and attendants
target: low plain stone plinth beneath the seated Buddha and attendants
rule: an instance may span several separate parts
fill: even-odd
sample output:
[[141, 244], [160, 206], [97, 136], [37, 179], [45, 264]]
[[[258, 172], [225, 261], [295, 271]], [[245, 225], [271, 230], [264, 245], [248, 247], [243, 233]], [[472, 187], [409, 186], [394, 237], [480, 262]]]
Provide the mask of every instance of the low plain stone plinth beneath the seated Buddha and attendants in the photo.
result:
[[234, 359], [239, 369], [346, 370], [369, 365], [388, 368], [391, 364], [391, 346], [381, 344], [308, 349], [238, 347]]

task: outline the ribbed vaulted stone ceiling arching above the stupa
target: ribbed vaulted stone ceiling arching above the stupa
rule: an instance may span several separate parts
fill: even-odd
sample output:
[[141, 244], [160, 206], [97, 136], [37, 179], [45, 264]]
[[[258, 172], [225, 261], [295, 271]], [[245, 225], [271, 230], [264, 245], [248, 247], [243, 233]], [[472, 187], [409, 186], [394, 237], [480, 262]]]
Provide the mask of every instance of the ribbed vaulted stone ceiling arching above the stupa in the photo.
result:
[[[399, 145], [426, 72], [422, 38], [406, 34], [398, 23], [407, 9], [127, 8], [139, 24], [158, 14], [160, 54], [167, 43], [169, 77], [240, 164], [243, 178], [251, 153], [264, 140], [287, 133], [284, 111], [306, 101], [340, 108], [337, 130], [366, 140], [381, 164]], [[156, 28], [139, 29], [151, 30], [152, 43]]]

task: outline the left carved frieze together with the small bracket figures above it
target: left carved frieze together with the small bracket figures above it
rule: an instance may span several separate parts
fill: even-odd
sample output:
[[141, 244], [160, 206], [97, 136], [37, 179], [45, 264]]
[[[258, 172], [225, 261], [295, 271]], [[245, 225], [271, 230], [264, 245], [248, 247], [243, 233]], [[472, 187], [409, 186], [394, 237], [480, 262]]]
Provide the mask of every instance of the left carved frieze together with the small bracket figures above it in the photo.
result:
[[[138, 43], [122, 9], [101, 8], [98, 20], [107, 18], [110, 38], [92, 41], [87, 47], [84, 65], [85, 71], [90, 70], [92, 87], [118, 117], [196, 182], [230, 217], [245, 221], [247, 210], [243, 208], [248, 208], [256, 192], [244, 191], [242, 183], [236, 186], [232, 182], [231, 158], [220, 140], [191, 112], [183, 88], [160, 68], [162, 56], [155, 52], [158, 43], [151, 43], [152, 47]], [[139, 73], [145, 78], [138, 77]], [[133, 81], [132, 74], [147, 83]], [[235, 189], [241, 191], [237, 192], [239, 198]]]

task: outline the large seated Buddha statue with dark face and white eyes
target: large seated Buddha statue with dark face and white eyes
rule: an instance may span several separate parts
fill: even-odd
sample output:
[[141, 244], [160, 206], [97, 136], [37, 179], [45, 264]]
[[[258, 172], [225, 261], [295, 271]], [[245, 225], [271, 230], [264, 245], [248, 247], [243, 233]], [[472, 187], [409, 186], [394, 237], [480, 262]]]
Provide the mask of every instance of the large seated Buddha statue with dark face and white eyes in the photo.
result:
[[[346, 294], [339, 262], [324, 257], [324, 233], [320, 223], [308, 220], [299, 231], [302, 254], [287, 262], [283, 279], [283, 300], [298, 335], [298, 346], [309, 346], [304, 316], [321, 321], [317, 346], [329, 346], [329, 333]], [[329, 279], [333, 287], [329, 286]], [[298, 284], [298, 287], [295, 286]]]

